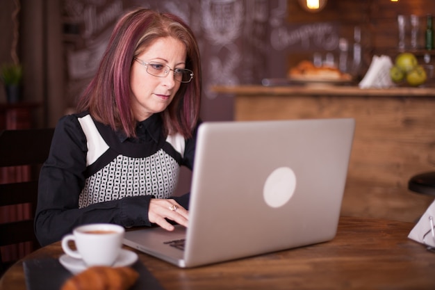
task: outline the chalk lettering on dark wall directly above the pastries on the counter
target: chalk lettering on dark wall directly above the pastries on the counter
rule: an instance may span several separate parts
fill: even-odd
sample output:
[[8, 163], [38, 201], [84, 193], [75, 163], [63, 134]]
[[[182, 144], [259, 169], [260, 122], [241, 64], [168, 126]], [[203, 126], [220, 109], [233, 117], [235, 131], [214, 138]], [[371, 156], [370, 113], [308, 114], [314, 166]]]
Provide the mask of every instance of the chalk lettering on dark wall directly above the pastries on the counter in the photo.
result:
[[270, 34], [270, 44], [276, 50], [334, 50], [338, 39], [337, 26], [332, 23], [279, 26]]

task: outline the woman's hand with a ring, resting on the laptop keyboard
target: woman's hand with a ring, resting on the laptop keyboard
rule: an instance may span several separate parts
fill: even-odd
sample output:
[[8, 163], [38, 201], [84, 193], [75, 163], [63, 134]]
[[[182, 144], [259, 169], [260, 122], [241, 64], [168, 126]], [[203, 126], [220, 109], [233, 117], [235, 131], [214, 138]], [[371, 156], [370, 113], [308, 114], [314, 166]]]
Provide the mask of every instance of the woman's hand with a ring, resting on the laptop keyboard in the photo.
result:
[[184, 227], [188, 226], [189, 212], [181, 207], [175, 200], [152, 198], [149, 202], [148, 218], [151, 223], [167, 229], [174, 230], [174, 225], [167, 222], [166, 218], [174, 220], [174, 222]]

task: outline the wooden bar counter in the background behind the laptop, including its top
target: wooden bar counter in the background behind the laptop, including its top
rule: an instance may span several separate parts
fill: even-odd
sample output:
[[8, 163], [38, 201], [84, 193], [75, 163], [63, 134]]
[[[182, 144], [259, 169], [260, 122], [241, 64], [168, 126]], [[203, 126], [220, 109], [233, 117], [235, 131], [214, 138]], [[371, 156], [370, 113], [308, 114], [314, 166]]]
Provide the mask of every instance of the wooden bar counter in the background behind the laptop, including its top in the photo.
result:
[[435, 170], [435, 88], [215, 86], [213, 91], [234, 96], [238, 121], [354, 118], [343, 215], [414, 221], [432, 202], [407, 186], [413, 175]]

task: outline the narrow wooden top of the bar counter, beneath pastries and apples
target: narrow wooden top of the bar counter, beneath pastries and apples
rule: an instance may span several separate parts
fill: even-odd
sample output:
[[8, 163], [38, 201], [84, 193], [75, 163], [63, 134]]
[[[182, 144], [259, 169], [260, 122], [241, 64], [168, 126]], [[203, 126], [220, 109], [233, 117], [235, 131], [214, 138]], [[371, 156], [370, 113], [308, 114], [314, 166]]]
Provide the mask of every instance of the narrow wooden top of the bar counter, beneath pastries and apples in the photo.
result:
[[435, 97], [434, 87], [395, 87], [361, 89], [358, 86], [213, 86], [213, 92], [236, 95], [322, 95], [322, 96], [379, 96], [379, 97]]

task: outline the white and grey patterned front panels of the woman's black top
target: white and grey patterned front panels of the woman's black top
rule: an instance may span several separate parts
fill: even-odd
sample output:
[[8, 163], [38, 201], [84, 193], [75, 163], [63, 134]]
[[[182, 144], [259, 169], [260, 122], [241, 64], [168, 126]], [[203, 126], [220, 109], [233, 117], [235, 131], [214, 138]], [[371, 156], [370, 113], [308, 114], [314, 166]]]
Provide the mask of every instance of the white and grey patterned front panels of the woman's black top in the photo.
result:
[[[99, 134], [90, 115], [79, 118], [79, 122], [88, 145], [86, 166], [90, 166], [109, 149], [109, 145]], [[168, 136], [166, 142], [183, 155], [183, 136]], [[85, 180], [79, 196], [79, 208], [126, 196], [154, 195], [155, 198], [169, 198], [177, 188], [179, 171], [179, 163], [163, 148], [143, 158], [119, 154]]]

